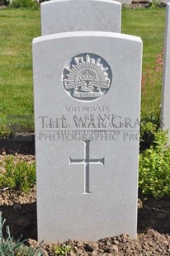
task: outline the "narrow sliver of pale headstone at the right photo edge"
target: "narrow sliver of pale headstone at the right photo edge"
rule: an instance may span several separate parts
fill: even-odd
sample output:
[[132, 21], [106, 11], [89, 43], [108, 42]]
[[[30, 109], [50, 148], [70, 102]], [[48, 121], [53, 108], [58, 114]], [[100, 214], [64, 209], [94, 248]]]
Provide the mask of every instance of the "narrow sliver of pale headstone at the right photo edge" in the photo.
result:
[[[163, 59], [162, 128], [170, 130], [170, 2], [167, 3]], [[169, 134], [170, 136], [170, 134]]]

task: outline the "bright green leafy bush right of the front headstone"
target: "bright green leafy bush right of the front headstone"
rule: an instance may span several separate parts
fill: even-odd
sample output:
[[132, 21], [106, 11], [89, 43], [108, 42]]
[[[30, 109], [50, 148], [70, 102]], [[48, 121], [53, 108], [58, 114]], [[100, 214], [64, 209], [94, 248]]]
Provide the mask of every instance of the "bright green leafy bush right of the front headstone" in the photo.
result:
[[168, 132], [153, 127], [153, 135], [153, 145], [139, 155], [139, 189], [161, 198], [170, 196], [170, 146]]

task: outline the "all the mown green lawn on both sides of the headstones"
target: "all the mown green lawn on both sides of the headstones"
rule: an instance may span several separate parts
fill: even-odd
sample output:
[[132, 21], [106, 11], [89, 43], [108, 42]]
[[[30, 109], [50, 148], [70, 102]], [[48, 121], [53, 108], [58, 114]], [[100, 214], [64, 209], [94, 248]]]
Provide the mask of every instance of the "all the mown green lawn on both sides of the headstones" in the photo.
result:
[[[163, 53], [165, 8], [123, 9], [122, 33], [144, 41], [142, 115], [157, 114], [161, 98], [162, 69], [155, 73]], [[9, 116], [33, 117], [31, 41], [40, 36], [40, 10], [0, 10], [0, 136], [6, 135]], [[25, 122], [27, 131], [34, 121]]]

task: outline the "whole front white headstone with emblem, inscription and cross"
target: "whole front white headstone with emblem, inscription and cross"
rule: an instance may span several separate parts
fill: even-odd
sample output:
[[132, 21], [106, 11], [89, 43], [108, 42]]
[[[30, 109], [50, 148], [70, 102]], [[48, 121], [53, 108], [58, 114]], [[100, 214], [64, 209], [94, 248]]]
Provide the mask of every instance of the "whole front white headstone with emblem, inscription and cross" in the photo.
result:
[[33, 40], [40, 241], [135, 238], [141, 51], [110, 32]]

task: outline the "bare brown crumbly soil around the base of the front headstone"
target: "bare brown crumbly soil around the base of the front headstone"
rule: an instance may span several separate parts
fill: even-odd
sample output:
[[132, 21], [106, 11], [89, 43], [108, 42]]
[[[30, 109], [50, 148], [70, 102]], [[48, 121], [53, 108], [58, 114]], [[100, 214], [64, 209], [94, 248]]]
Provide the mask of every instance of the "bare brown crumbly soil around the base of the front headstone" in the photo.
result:
[[[14, 155], [16, 161], [18, 159], [35, 161], [34, 145], [33, 135], [20, 135], [9, 140], [0, 140], [0, 162], [8, 154]], [[3, 170], [0, 169], [0, 171]], [[32, 187], [28, 194], [13, 191], [7, 187], [1, 189], [0, 211], [15, 239], [22, 235], [22, 239], [27, 239], [30, 246], [37, 245], [36, 187]], [[72, 256], [170, 255], [170, 198], [163, 197], [156, 200], [153, 197], [144, 197], [139, 192], [137, 239], [131, 239], [129, 235], [122, 234], [96, 242], [69, 240], [64, 244], [70, 244], [73, 247], [73, 252], [66, 254]], [[52, 245], [46, 244], [43, 248], [45, 255], [54, 255]]]

